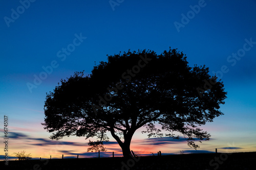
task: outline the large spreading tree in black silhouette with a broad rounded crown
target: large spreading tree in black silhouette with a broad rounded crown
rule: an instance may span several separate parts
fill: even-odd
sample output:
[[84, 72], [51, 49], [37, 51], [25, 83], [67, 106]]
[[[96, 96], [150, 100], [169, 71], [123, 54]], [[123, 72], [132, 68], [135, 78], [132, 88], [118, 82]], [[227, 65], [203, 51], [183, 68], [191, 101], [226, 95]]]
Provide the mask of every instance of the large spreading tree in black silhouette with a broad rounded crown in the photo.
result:
[[131, 154], [135, 131], [148, 137], [179, 138], [184, 135], [191, 148], [199, 148], [196, 138], [209, 140], [210, 134], [199, 128], [222, 115], [226, 92], [223, 82], [208, 74], [204, 66], [189, 67], [186, 57], [176, 49], [157, 55], [154, 51], [115, 54], [108, 62], [94, 66], [90, 75], [75, 72], [45, 101], [45, 129], [50, 138], [97, 136], [98, 144], [110, 132], [120, 145], [123, 156]]

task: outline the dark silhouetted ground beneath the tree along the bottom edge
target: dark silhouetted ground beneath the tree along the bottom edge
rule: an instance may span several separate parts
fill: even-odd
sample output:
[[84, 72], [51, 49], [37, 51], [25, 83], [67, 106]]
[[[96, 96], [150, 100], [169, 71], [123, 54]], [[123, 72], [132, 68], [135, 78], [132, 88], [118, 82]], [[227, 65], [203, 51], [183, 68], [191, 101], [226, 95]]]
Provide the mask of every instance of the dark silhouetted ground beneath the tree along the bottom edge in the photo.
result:
[[0, 162], [6, 170], [80, 169], [256, 169], [256, 152], [142, 156], [124, 161], [115, 158], [42, 159]]

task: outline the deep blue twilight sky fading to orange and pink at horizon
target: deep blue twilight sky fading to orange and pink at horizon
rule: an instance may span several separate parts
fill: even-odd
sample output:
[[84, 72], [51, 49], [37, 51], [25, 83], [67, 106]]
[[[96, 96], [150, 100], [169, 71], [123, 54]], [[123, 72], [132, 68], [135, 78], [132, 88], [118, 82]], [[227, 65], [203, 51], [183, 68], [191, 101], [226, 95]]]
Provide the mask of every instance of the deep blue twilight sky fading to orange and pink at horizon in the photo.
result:
[[[106, 55], [178, 48], [189, 66], [206, 65], [227, 91], [224, 115], [202, 128], [211, 134], [197, 151], [184, 138], [135, 133], [141, 155], [256, 151], [256, 1], [40, 1], [0, 0], [0, 136], [8, 117], [8, 155], [25, 150], [34, 159], [96, 157], [84, 137], [49, 139], [44, 102], [61, 79], [90, 74]], [[1, 142], [0, 160], [5, 145]], [[102, 156], [121, 156], [110, 136]]]

